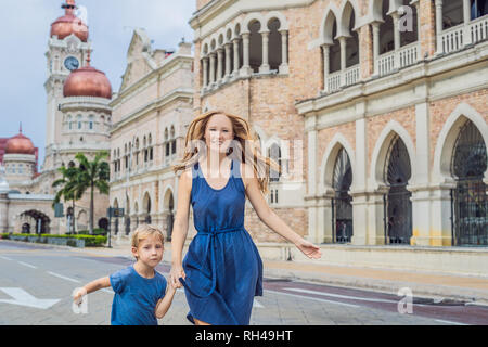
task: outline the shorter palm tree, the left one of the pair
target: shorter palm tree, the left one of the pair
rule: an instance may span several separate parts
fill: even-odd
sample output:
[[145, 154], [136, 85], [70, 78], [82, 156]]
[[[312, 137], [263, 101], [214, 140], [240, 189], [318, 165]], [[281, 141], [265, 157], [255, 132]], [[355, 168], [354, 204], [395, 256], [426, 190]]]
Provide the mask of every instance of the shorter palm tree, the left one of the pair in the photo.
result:
[[55, 180], [52, 183], [53, 188], [61, 187], [54, 196], [54, 201], [52, 206], [60, 203], [61, 197], [63, 197], [64, 202], [72, 201], [73, 202], [73, 215], [72, 215], [72, 223], [73, 223], [73, 233], [76, 233], [75, 230], [75, 202], [80, 200], [82, 196], [82, 191], [79, 182], [79, 169], [69, 165], [67, 168], [63, 165], [57, 169], [61, 172], [62, 177]]

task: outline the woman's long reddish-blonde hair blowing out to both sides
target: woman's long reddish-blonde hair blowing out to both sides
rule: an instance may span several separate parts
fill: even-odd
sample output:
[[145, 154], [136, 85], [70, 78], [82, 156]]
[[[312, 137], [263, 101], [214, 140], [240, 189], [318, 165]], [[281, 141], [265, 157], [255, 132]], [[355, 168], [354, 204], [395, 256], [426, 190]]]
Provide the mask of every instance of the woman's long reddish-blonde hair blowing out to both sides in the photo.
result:
[[183, 158], [172, 167], [175, 174], [192, 167], [198, 162], [201, 156], [207, 153], [204, 138], [205, 129], [210, 117], [217, 114], [226, 115], [232, 123], [234, 140], [227, 155], [253, 167], [260, 191], [267, 193], [270, 169], [281, 172], [281, 168], [274, 160], [261, 155], [259, 145], [256, 145], [256, 139], [253, 137], [249, 125], [244, 118], [222, 111], [210, 111], [193, 119], [188, 128]]

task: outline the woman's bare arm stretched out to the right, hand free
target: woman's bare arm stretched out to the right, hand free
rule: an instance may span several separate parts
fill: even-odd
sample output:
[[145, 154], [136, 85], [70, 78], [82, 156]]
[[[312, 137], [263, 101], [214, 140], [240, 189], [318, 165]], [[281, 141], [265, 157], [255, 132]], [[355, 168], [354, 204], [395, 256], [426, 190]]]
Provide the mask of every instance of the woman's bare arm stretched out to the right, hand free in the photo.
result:
[[[254, 172], [249, 167], [245, 167], [245, 164], [241, 167], [241, 172]], [[265, 196], [259, 190], [259, 183], [257, 178], [253, 176], [242, 177], [244, 187], [246, 190], [246, 195], [249, 198], [256, 214], [259, 219], [272, 231], [282, 235], [287, 241], [295, 244], [295, 246], [301, 250], [307, 257], [312, 259], [320, 259], [322, 253], [318, 246], [311, 242], [305, 240], [296, 232], [294, 232], [277, 214], [269, 207]]]

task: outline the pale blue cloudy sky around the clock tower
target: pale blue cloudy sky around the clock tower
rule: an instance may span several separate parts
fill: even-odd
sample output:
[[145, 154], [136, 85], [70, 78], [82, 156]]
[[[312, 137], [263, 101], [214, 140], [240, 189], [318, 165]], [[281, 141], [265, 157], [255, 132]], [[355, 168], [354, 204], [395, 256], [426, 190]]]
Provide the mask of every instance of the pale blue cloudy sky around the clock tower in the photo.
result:
[[[51, 23], [64, 15], [64, 0], [0, 0], [0, 138], [22, 132], [46, 145], [46, 52]], [[118, 91], [133, 29], [144, 28], [154, 49], [176, 50], [193, 41], [189, 20], [196, 0], [77, 0], [87, 9], [91, 65], [106, 74]]]

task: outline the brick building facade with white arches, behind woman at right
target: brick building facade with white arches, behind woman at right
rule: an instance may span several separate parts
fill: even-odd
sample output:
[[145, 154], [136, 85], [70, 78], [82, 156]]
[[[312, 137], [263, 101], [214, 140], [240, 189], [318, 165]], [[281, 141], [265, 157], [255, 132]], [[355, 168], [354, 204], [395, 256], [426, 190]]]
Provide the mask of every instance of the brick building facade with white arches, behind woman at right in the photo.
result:
[[[488, 245], [486, 1], [198, 0], [190, 24], [195, 113], [249, 120], [295, 231]], [[255, 240], [283, 241], [246, 214]]]

